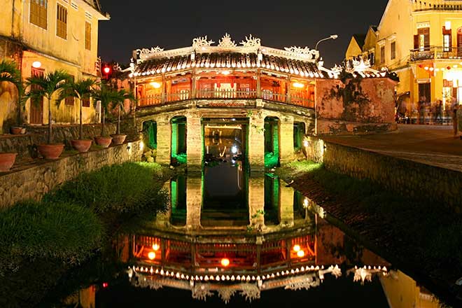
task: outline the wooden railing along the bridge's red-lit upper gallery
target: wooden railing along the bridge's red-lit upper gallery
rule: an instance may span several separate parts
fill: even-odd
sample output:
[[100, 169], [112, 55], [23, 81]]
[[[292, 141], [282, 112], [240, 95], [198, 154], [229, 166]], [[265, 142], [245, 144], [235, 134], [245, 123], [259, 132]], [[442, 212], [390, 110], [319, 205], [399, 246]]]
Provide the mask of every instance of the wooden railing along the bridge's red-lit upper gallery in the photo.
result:
[[[193, 99], [190, 90], [181, 90], [181, 92], [171, 92], [166, 94], [155, 94], [142, 97], [139, 99], [138, 106], [156, 106], [172, 102], [181, 102]], [[234, 89], [216, 89], [216, 90], [197, 90], [195, 98], [197, 99], [264, 99], [271, 102], [279, 102], [314, 108], [314, 101], [309, 98], [308, 94], [268, 92], [262, 90], [260, 96], [257, 90], [234, 90]]]

